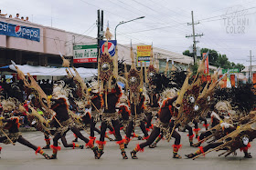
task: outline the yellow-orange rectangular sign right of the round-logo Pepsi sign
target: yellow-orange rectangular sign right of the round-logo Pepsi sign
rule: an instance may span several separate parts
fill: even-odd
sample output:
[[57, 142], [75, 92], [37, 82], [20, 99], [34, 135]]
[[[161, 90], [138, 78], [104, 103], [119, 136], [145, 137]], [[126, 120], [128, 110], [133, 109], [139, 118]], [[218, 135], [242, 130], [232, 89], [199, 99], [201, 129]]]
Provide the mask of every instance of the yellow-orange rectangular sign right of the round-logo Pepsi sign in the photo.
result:
[[139, 62], [150, 62], [151, 45], [137, 45], [137, 65]]

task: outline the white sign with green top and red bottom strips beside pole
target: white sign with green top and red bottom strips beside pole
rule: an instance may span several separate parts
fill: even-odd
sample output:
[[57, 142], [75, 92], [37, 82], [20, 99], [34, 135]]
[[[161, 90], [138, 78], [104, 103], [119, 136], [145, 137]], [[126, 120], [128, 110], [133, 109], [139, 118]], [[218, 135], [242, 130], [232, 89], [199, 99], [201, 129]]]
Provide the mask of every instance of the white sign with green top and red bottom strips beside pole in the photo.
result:
[[74, 63], [97, 63], [97, 45], [74, 45]]

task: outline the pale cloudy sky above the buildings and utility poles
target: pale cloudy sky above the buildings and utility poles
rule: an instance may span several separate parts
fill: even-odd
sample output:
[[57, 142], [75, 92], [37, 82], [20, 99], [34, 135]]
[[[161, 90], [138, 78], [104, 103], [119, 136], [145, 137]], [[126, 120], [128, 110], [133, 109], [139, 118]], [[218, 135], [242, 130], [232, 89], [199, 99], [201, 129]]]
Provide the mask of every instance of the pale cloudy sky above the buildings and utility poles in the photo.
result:
[[[226, 54], [229, 60], [249, 65], [250, 50], [256, 58], [256, 1], [252, 0], [1, 0], [2, 14], [28, 16], [37, 24], [70, 32], [97, 35], [97, 10], [104, 11], [104, 26], [117, 28], [120, 44], [144, 43], [182, 53], [192, 45], [191, 11], [194, 11], [199, 47]], [[105, 30], [105, 27], [104, 27]], [[256, 65], [256, 61], [254, 62]]]

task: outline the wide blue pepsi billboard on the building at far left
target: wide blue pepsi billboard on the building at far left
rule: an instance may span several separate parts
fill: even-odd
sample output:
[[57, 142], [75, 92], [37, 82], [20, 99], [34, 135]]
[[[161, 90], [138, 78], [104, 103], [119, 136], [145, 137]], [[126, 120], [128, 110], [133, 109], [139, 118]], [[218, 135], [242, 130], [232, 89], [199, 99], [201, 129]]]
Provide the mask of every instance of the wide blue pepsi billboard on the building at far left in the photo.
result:
[[0, 35], [14, 36], [25, 38], [32, 41], [40, 42], [40, 29], [22, 25], [13, 25], [0, 22]]

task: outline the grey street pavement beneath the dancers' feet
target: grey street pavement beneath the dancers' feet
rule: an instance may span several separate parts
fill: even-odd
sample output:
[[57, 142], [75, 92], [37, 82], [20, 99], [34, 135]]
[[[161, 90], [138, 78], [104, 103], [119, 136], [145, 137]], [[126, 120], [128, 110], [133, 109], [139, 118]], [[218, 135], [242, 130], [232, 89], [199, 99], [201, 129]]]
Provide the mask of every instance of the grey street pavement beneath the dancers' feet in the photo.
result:
[[[202, 128], [204, 130], [204, 128]], [[143, 135], [141, 130], [136, 128], [135, 132], [139, 135]], [[91, 149], [72, 149], [61, 146], [61, 150], [58, 153], [58, 159], [46, 160], [42, 155], [35, 155], [35, 151], [28, 148], [25, 145], [4, 145], [0, 159], [0, 170], [77, 170], [77, 169], [101, 169], [101, 170], [126, 170], [126, 169], [146, 169], [146, 170], [160, 170], [160, 169], [187, 169], [187, 170], [211, 170], [211, 169], [223, 169], [223, 170], [237, 170], [237, 169], [255, 169], [256, 168], [256, 144], [251, 143], [251, 155], [253, 158], [243, 158], [243, 153], [237, 152], [237, 155], [229, 155], [228, 157], [218, 156], [219, 152], [212, 152], [205, 157], [199, 157], [196, 160], [187, 159], [185, 154], [194, 153], [197, 148], [190, 147], [187, 137], [187, 132], [179, 132], [182, 136], [181, 144], [183, 145], [179, 151], [182, 155], [182, 159], [172, 158], [172, 145], [174, 139], [167, 143], [165, 140], [161, 140], [157, 147], [151, 149], [149, 147], [144, 148], [144, 153], [138, 153], [139, 159], [133, 160], [130, 152], [135, 145], [144, 141], [133, 140], [126, 149], [128, 160], [123, 160], [119, 145], [115, 144], [115, 141], [110, 142], [108, 139], [107, 145], [104, 149], [104, 154], [101, 159], [95, 160]], [[89, 137], [88, 134], [82, 132], [83, 135]], [[122, 132], [123, 135], [123, 132]], [[32, 144], [43, 147], [45, 145], [44, 135], [41, 132], [24, 132], [23, 136]], [[113, 136], [110, 135], [112, 138]], [[124, 136], [124, 135], [123, 135]], [[96, 135], [99, 139], [99, 135]], [[67, 134], [67, 141], [71, 143], [74, 139], [73, 134], [69, 132]], [[60, 140], [59, 140], [60, 141]], [[196, 142], [196, 139], [194, 139]], [[52, 143], [52, 141], [51, 141]], [[77, 144], [83, 145], [83, 142], [79, 139]], [[206, 144], [205, 144], [206, 145]], [[48, 155], [51, 155], [51, 150], [45, 150]]]

